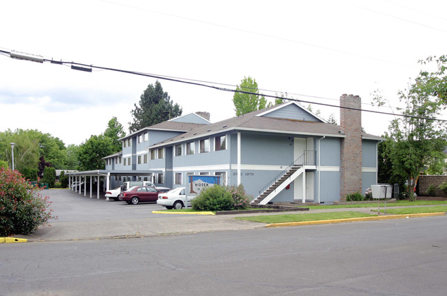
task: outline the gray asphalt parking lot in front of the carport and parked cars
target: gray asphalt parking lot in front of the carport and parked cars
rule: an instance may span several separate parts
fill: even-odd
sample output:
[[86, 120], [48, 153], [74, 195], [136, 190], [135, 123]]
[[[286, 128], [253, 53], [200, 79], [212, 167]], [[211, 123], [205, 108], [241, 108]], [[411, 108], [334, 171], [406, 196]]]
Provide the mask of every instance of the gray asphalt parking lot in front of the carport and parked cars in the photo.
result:
[[98, 221], [112, 219], [155, 218], [164, 215], [153, 214], [152, 211], [165, 209], [153, 202], [127, 204], [127, 202], [106, 200], [104, 193], [100, 198], [89, 198], [89, 193], [79, 194], [69, 189], [50, 189], [41, 191], [42, 195], [50, 195], [54, 215], [58, 220], [50, 222]]

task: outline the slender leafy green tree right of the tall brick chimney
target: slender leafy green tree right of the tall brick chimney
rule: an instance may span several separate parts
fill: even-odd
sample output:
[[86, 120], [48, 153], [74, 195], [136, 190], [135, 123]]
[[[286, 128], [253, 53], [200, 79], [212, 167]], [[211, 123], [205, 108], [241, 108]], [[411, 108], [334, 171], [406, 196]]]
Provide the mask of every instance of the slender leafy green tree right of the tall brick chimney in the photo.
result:
[[433, 120], [445, 106], [439, 104], [437, 97], [422, 90], [421, 84], [425, 82], [419, 76], [408, 89], [400, 92], [404, 107], [399, 109], [408, 117], [392, 120], [389, 127], [390, 138], [394, 141], [391, 150], [393, 169], [406, 179], [411, 200], [414, 200], [417, 176], [424, 167], [433, 167], [439, 160], [444, 160], [443, 151], [447, 145], [446, 125]]

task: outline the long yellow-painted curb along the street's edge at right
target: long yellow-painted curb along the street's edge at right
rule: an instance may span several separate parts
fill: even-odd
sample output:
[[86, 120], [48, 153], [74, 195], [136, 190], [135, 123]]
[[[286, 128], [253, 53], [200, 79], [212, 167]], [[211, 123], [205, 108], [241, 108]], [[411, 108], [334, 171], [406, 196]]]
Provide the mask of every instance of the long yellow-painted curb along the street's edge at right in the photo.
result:
[[362, 222], [373, 220], [393, 220], [393, 219], [405, 219], [405, 218], [419, 218], [419, 217], [434, 217], [446, 215], [445, 212], [438, 213], [419, 213], [419, 214], [407, 214], [407, 215], [387, 215], [377, 217], [362, 217], [362, 218], [347, 218], [336, 220], [316, 220], [316, 221], [302, 221], [302, 222], [285, 222], [285, 223], [272, 223], [267, 224], [265, 227], [287, 227], [287, 226], [300, 226], [300, 225], [317, 225], [317, 224], [335, 224], [335, 223], [347, 223], [347, 222]]

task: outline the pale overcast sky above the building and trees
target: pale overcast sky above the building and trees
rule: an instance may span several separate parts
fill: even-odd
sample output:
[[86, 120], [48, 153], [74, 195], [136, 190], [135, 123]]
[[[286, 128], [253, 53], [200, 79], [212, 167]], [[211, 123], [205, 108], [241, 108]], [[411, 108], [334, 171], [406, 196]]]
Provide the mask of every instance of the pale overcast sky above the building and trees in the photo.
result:
[[[330, 105], [357, 94], [364, 109], [377, 109], [379, 88], [391, 101], [383, 112], [399, 113], [397, 92], [419, 59], [447, 54], [445, 1], [25, 0], [1, 10], [0, 50], [229, 85], [251, 76], [266, 94]], [[155, 81], [0, 55], [0, 131], [39, 129], [79, 145], [116, 116], [129, 133], [131, 109]], [[160, 83], [184, 114], [235, 116], [232, 92]], [[338, 108], [312, 108], [339, 118]], [[380, 136], [391, 119], [363, 112], [362, 125]]]

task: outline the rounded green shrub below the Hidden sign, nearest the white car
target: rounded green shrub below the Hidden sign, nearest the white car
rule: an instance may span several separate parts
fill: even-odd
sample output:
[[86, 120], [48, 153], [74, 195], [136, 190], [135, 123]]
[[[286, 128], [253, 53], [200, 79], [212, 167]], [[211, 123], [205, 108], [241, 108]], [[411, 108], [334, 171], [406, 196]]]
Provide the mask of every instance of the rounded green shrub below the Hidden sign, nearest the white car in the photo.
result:
[[229, 191], [215, 185], [201, 191], [191, 203], [195, 211], [230, 211], [235, 201]]

